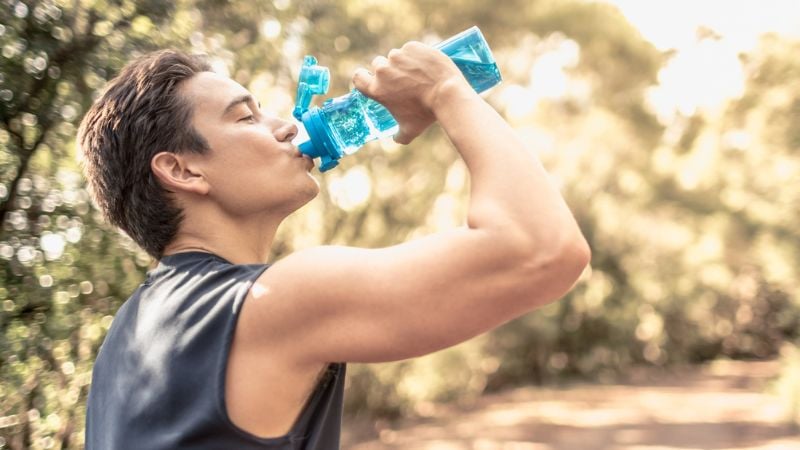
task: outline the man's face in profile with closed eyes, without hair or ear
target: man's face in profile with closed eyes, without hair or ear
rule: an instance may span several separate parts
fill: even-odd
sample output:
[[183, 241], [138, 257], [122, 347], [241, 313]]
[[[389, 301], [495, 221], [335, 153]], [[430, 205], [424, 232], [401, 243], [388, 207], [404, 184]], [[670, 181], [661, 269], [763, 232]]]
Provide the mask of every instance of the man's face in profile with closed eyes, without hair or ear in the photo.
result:
[[319, 193], [313, 162], [292, 145], [297, 127], [263, 113], [230, 78], [201, 72], [181, 94], [194, 107], [192, 123], [211, 151], [192, 158], [211, 186], [209, 196], [227, 213], [289, 214]]

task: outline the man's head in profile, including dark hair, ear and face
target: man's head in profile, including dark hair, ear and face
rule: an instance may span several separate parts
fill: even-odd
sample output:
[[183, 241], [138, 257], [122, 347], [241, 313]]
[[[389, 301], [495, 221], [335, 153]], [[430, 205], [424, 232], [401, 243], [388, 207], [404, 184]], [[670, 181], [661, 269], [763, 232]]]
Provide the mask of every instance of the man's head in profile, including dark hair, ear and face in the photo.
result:
[[[106, 218], [160, 258], [195, 204], [213, 202], [236, 216], [270, 207], [291, 212], [313, 198], [318, 186], [289, 142], [295, 134], [293, 124], [263, 115], [247, 90], [201, 58], [167, 50], [132, 62], [109, 83], [84, 117], [78, 143]], [[291, 170], [304, 175], [300, 193], [266, 198], [270, 189], [300, 187], [285, 179], [289, 156]]]

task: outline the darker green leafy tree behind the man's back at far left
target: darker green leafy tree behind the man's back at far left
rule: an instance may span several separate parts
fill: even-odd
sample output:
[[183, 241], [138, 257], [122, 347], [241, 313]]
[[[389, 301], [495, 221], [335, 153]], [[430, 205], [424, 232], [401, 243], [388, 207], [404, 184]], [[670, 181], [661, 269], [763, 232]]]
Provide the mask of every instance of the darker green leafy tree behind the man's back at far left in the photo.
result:
[[0, 440], [77, 447], [93, 357], [149, 260], [92, 208], [75, 162], [76, 123], [130, 55], [160, 43], [152, 32], [175, 9], [159, 1], [5, 3]]

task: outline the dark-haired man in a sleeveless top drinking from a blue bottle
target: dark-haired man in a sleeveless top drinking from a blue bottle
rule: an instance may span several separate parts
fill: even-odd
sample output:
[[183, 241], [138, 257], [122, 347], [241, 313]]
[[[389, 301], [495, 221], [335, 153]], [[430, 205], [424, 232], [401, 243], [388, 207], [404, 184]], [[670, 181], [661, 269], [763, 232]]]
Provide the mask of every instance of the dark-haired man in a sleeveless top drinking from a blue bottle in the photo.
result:
[[159, 260], [98, 355], [88, 449], [337, 449], [344, 363], [431, 353], [572, 287], [589, 248], [569, 209], [450, 59], [411, 42], [353, 82], [400, 143], [439, 122], [471, 175], [466, 226], [265, 270], [278, 225], [319, 190], [291, 122], [172, 51], [126, 67], [87, 113], [93, 195]]

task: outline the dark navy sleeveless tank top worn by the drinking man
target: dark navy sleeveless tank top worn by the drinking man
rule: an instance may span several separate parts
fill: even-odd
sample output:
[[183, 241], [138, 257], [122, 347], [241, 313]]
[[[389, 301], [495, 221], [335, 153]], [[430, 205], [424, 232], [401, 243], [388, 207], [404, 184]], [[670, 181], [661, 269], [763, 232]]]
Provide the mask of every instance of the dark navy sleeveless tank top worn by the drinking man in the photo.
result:
[[285, 436], [259, 438], [228, 417], [233, 332], [266, 268], [204, 252], [161, 259], [117, 312], [95, 361], [88, 450], [339, 448], [343, 363], [328, 366]]

